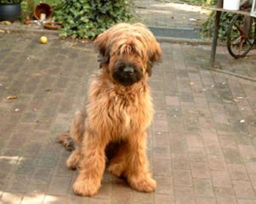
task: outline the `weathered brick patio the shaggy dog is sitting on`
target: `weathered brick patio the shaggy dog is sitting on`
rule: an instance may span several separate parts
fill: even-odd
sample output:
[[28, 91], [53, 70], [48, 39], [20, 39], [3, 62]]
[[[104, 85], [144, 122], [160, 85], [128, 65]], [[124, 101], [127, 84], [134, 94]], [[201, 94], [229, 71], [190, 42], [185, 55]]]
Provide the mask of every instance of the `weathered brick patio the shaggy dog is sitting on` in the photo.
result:
[[[39, 37], [0, 34], [1, 204], [256, 203], [256, 82], [202, 69], [209, 46], [168, 43], [150, 79], [148, 158], [157, 190], [138, 193], [105, 173], [98, 195], [74, 195], [77, 171], [67, 170], [70, 153], [55, 138], [83, 103], [97, 58], [91, 44], [49, 37], [41, 45]], [[251, 54], [233, 60], [219, 48], [217, 59], [224, 70], [255, 77]], [[18, 98], [6, 100], [11, 95]]]

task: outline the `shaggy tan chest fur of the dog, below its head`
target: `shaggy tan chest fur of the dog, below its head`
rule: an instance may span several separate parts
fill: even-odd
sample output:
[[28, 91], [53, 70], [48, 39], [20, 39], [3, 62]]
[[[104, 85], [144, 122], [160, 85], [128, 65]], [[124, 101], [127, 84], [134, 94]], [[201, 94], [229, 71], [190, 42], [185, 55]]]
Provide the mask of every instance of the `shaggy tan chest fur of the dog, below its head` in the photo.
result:
[[147, 86], [134, 91], [94, 83], [90, 93], [88, 122], [94, 130], [102, 131], [99, 134], [113, 140], [124, 139], [150, 125], [153, 107]]

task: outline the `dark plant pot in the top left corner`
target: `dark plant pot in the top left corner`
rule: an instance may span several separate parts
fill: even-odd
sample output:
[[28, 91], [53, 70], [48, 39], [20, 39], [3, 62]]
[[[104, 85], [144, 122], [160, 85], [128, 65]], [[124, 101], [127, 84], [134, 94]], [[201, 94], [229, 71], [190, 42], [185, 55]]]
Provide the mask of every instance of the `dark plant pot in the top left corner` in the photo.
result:
[[0, 4], [0, 21], [15, 21], [20, 14], [21, 7], [19, 3]]

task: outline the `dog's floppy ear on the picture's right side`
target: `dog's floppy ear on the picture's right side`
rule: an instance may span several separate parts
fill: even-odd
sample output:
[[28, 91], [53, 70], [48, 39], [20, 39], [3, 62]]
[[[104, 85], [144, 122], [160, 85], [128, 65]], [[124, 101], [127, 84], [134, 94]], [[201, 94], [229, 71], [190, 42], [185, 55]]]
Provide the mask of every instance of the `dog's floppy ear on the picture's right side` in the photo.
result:
[[159, 61], [161, 58], [162, 58], [162, 49], [159, 43], [155, 42], [151, 46], [151, 50], [149, 51], [149, 54], [148, 54], [148, 64], [147, 64], [146, 71], [149, 77], [152, 74], [152, 68], [153, 68], [154, 62]]

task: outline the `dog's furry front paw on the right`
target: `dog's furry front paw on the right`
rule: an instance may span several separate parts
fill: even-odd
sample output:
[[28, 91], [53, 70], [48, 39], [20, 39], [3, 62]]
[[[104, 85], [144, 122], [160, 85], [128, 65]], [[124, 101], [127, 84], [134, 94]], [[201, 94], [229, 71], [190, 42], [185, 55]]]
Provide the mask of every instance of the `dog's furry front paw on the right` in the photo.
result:
[[157, 183], [153, 178], [149, 176], [139, 176], [139, 177], [130, 177], [128, 178], [128, 182], [131, 187], [137, 191], [141, 192], [152, 192], [157, 187]]

